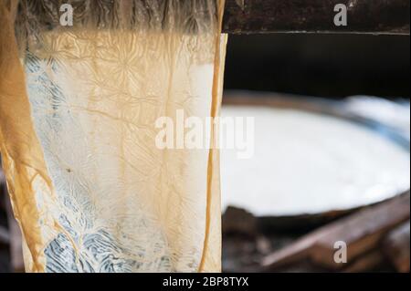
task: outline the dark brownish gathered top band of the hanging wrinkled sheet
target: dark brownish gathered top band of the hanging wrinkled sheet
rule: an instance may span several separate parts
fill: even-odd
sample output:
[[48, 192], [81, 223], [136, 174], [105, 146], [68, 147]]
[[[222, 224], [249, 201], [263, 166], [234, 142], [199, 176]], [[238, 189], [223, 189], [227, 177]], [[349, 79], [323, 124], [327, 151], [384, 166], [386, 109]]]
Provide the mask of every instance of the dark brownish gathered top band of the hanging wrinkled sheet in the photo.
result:
[[[16, 27], [27, 30], [72, 28], [214, 32], [219, 0], [11, 0]], [[72, 15], [72, 23], [67, 21]], [[27, 34], [36, 33], [28, 31]]]

